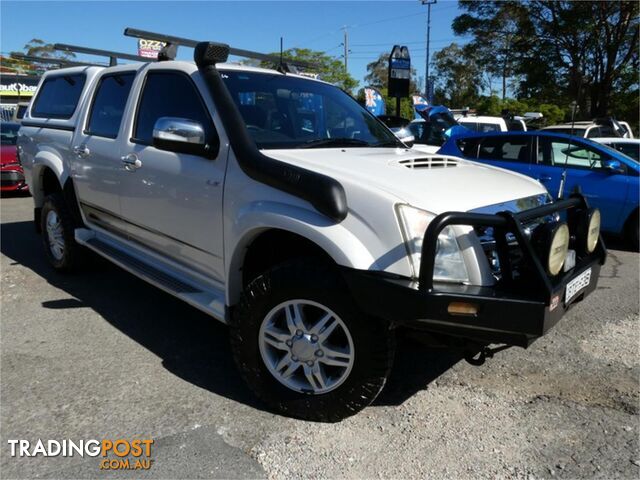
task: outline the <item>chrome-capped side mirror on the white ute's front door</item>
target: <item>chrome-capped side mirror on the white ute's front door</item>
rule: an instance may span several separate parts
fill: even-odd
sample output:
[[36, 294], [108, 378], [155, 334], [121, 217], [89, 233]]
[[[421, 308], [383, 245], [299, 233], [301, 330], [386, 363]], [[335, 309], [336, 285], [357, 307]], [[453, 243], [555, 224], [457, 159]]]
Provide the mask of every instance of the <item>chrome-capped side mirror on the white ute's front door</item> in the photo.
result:
[[204, 127], [177, 117], [160, 117], [153, 126], [153, 146], [170, 152], [205, 155], [209, 150]]

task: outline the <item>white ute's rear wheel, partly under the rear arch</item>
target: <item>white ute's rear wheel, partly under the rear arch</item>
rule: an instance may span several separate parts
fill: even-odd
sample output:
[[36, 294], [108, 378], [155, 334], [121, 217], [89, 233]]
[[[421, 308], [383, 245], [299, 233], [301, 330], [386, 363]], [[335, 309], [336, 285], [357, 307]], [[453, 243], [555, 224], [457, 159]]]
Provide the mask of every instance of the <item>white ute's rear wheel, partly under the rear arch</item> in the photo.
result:
[[42, 244], [49, 263], [58, 271], [76, 270], [85, 258], [74, 238], [74, 221], [62, 194], [47, 196], [40, 216]]

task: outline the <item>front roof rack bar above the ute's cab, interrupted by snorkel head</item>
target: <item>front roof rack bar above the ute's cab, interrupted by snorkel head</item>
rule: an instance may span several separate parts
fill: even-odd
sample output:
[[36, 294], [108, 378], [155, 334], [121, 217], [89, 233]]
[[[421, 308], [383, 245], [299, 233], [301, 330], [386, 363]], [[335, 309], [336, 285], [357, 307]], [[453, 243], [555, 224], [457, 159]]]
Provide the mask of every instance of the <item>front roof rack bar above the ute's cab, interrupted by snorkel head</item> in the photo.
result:
[[[125, 28], [124, 34], [127, 37], [144, 38], [145, 40], [157, 40], [160, 42], [164, 42], [166, 45], [158, 55], [158, 60], [160, 61], [175, 60], [179, 46], [195, 48], [196, 45], [200, 43], [200, 41], [198, 40], [191, 40], [189, 38], [182, 38], [182, 37], [174, 37], [172, 35], [165, 35], [162, 33], [148, 32], [145, 30], [138, 30], [137, 28], [131, 28], [131, 27]], [[282, 54], [280, 55], [280, 57], [277, 57], [275, 55], [267, 55], [265, 53], [253, 52], [251, 50], [244, 50], [241, 48], [234, 48], [234, 47], [228, 47], [228, 48], [229, 48], [230, 55], [236, 55], [238, 57], [245, 57], [245, 58], [253, 58], [255, 60], [261, 60], [264, 62], [271, 62], [277, 66], [282, 66], [284, 69], [292, 73], [294, 73], [296, 69], [291, 67], [315, 68], [315, 69], [318, 68], [318, 65], [314, 65], [309, 62], [283, 59]]]

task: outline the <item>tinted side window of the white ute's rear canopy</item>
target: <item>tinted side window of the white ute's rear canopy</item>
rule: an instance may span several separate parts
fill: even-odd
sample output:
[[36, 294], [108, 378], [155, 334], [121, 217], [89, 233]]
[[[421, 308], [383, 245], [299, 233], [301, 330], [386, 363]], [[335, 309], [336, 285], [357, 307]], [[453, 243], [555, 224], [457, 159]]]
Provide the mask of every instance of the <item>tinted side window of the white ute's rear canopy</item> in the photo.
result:
[[76, 111], [86, 77], [83, 73], [47, 78], [40, 86], [31, 108], [31, 116], [39, 118], [71, 118]]

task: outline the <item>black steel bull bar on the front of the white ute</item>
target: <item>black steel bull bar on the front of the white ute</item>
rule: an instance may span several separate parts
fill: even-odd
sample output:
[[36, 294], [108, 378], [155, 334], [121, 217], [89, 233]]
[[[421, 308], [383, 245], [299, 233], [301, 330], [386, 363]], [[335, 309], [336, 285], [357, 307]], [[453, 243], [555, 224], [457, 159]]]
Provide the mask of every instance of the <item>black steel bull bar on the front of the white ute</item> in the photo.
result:
[[[475, 343], [504, 343], [529, 346], [553, 327], [572, 305], [597, 287], [600, 267], [606, 259], [602, 238], [591, 254], [578, 255], [576, 265], [558, 277], [549, 278], [522, 222], [566, 210], [568, 222], [580, 209], [588, 208], [580, 195], [520, 214], [497, 215], [449, 212], [436, 217], [423, 242], [420, 280], [381, 272], [345, 269], [343, 275], [359, 307], [369, 315], [384, 318], [396, 326], [408, 326], [431, 333], [460, 337]], [[440, 231], [448, 225], [491, 225], [518, 240], [526, 262], [526, 276], [517, 282], [503, 281], [492, 287], [451, 285], [433, 282], [433, 262]], [[428, 253], [426, 253], [428, 252]], [[591, 270], [588, 285], [566, 300], [567, 284]], [[471, 304], [477, 313], [452, 314], [452, 303]]]

